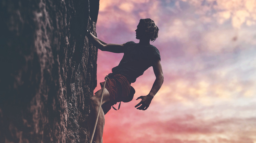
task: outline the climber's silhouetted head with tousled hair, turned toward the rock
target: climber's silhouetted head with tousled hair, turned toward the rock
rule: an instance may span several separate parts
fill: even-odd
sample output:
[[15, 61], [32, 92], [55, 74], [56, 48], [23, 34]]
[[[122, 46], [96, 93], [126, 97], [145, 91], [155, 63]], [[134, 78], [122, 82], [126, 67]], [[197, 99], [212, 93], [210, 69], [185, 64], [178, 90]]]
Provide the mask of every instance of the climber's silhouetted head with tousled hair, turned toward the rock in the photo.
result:
[[150, 41], [155, 41], [158, 37], [158, 27], [150, 18], [140, 19], [137, 26], [136, 39], [148, 38]]

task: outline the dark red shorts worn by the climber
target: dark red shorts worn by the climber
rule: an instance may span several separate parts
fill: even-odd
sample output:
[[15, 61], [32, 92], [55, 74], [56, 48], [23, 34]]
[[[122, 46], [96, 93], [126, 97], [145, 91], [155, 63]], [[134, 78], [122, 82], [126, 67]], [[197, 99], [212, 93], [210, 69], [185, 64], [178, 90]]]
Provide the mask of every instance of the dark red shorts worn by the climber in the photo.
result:
[[[100, 86], [103, 87], [104, 82], [101, 82]], [[107, 80], [105, 88], [109, 92], [110, 102], [101, 105], [104, 114], [106, 114], [111, 109], [111, 106], [117, 102], [123, 101], [129, 96], [131, 85], [125, 76], [116, 74]]]

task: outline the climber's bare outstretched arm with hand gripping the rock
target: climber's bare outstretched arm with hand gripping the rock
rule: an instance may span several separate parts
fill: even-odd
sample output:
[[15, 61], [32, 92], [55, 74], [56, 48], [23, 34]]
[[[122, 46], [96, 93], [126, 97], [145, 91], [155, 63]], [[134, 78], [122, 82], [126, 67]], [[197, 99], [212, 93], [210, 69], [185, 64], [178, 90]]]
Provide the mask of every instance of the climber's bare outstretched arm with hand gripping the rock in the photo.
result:
[[87, 31], [87, 38], [101, 51], [108, 51], [113, 53], [123, 53], [124, 44], [107, 44], [95, 37], [91, 32]]

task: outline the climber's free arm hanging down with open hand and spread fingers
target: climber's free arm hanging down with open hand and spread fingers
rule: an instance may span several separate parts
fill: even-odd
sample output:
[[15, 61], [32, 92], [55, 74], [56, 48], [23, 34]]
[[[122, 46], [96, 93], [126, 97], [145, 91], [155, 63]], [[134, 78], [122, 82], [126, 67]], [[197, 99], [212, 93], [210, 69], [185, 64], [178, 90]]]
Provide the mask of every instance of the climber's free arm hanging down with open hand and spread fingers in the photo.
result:
[[149, 94], [146, 96], [140, 96], [136, 99], [136, 100], [141, 99], [139, 104], [137, 104], [135, 106], [135, 108], [136, 108], [140, 105], [137, 108], [139, 110], [146, 110], [149, 107], [149, 104], [151, 103], [153, 97], [157, 94], [158, 90], [161, 88], [161, 86], [163, 84], [163, 71], [162, 71], [162, 66], [161, 66], [160, 60], [156, 60], [153, 62], [153, 70], [154, 70], [154, 73], [156, 76], [156, 80], [155, 80]]

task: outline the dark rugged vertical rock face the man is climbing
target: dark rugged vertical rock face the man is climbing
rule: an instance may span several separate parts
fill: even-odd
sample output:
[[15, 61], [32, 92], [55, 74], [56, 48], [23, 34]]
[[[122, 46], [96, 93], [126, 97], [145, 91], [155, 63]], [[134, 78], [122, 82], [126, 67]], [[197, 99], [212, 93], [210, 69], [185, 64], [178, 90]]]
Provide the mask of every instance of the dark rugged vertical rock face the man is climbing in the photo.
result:
[[98, 0], [1, 0], [1, 143], [90, 141], [97, 49], [85, 35], [96, 35], [98, 7]]

